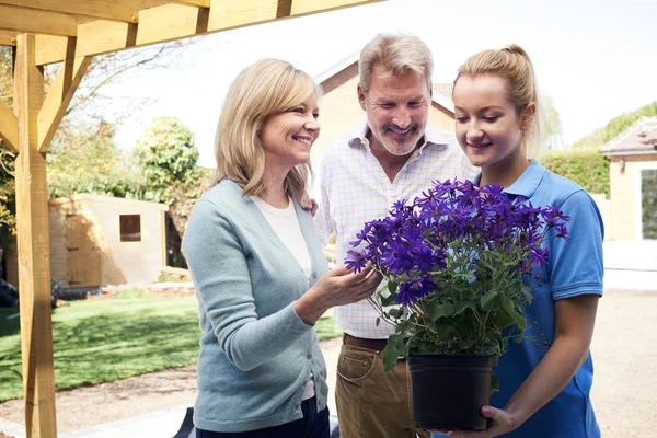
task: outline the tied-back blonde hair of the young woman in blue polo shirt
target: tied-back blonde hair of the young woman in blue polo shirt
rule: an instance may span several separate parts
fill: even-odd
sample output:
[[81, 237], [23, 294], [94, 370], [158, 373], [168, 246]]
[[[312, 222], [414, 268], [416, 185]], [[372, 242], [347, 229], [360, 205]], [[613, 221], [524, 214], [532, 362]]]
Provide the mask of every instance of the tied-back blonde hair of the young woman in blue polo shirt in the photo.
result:
[[534, 70], [527, 51], [516, 44], [509, 44], [500, 50], [484, 50], [471, 56], [459, 68], [459, 74], [497, 74], [508, 84], [511, 102], [516, 113], [522, 117], [525, 108], [534, 103], [537, 108], [529, 127], [522, 134], [522, 145], [528, 158], [537, 158], [540, 151], [540, 116], [539, 95], [534, 78]]

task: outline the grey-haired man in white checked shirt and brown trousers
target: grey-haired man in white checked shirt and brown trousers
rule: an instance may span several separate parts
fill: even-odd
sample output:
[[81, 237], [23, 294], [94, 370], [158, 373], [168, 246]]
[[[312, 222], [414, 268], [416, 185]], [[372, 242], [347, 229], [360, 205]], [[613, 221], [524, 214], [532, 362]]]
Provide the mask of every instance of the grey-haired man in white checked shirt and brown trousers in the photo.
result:
[[[331, 141], [316, 165], [313, 193], [320, 238], [336, 237], [337, 264], [366, 221], [394, 201], [414, 199], [435, 180], [465, 180], [474, 168], [454, 136], [428, 125], [434, 61], [417, 37], [382, 34], [358, 61], [358, 101], [367, 120]], [[383, 371], [381, 350], [394, 327], [377, 325], [367, 300], [334, 309], [344, 343], [337, 365], [336, 404], [344, 438], [411, 438], [416, 433], [405, 360]]]

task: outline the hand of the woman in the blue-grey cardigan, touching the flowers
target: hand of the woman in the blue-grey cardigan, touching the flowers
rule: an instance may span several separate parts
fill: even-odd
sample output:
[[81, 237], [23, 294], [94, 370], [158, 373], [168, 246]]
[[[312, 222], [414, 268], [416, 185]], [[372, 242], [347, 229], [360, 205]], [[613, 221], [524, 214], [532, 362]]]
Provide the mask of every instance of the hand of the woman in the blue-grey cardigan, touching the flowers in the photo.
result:
[[382, 277], [371, 266], [360, 273], [338, 266], [331, 269], [295, 302], [295, 311], [307, 324], [314, 324], [324, 312], [335, 306], [350, 304], [370, 297]]

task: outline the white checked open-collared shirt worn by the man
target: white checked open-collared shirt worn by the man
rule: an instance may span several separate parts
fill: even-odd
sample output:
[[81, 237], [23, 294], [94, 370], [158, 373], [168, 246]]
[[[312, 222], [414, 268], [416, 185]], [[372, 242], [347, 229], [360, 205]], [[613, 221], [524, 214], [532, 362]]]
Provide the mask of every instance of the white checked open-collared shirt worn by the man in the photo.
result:
[[[413, 200], [436, 180], [468, 180], [475, 174], [453, 135], [428, 126], [424, 143], [413, 152], [391, 183], [372, 154], [367, 123], [331, 141], [318, 160], [313, 198], [319, 209], [314, 223], [323, 244], [336, 235], [335, 255], [342, 264], [365, 222], [381, 219], [399, 199]], [[394, 327], [381, 322], [367, 301], [334, 309], [337, 325], [351, 336], [388, 338]]]

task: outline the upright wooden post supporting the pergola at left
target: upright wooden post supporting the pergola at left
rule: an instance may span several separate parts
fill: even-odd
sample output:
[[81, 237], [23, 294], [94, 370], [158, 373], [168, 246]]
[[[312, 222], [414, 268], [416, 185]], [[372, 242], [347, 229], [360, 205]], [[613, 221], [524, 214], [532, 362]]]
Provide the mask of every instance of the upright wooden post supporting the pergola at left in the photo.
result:
[[34, 35], [19, 35], [16, 47], [16, 231], [25, 429], [27, 438], [55, 438], [57, 422], [50, 314], [48, 189], [46, 155], [38, 152], [36, 123], [44, 100], [44, 77], [35, 64]]

